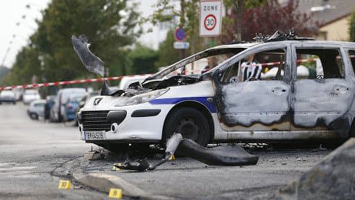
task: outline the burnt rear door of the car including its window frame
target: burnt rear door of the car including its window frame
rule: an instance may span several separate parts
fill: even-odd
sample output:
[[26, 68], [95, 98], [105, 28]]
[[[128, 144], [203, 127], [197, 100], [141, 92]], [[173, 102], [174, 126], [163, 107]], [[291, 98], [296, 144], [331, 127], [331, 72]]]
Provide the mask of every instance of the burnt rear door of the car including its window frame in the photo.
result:
[[[338, 138], [347, 138], [354, 118], [352, 107], [354, 107], [355, 96], [354, 80], [352, 80], [354, 74], [347, 54], [341, 45], [334, 44], [297, 43], [292, 44], [292, 47], [292, 85], [295, 91], [293, 98], [291, 98], [291, 131], [302, 129], [329, 130], [338, 134]], [[318, 49], [339, 51], [343, 60], [345, 78], [297, 80], [296, 48], [306, 49], [306, 51], [317, 51]], [[334, 64], [334, 68], [336, 67]], [[331, 69], [328, 70], [331, 71]], [[331, 75], [328, 76], [331, 77]]]

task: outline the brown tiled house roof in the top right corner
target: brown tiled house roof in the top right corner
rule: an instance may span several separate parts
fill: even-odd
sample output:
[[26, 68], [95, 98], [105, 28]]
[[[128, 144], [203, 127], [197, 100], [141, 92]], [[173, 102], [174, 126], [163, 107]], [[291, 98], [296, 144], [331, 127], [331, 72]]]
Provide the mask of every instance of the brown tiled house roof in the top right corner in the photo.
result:
[[354, 0], [300, 0], [298, 6], [300, 12], [313, 15], [321, 27], [347, 17], [354, 9]]

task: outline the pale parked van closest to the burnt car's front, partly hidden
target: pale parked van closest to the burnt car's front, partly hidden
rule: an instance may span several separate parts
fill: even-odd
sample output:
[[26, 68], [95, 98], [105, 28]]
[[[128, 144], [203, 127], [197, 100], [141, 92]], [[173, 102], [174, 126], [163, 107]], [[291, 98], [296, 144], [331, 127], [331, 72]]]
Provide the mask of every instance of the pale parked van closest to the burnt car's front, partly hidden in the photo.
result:
[[66, 88], [60, 89], [55, 96], [55, 102], [53, 107], [51, 108], [51, 116], [50, 119], [52, 122], [62, 122], [64, 120], [65, 114], [65, 104], [69, 99], [69, 96], [76, 95], [85, 95], [85, 88]]

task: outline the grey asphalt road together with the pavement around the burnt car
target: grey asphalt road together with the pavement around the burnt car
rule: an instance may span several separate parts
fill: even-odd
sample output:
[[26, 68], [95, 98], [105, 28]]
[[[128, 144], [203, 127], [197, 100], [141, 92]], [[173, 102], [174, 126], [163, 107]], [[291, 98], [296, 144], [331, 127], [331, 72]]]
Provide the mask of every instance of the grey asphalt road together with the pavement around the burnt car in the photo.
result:
[[[31, 120], [26, 109], [21, 103], [0, 105], [0, 199], [108, 199], [107, 194], [78, 183], [73, 189], [58, 190], [65, 173], [56, 176], [55, 170], [83, 156], [92, 145], [79, 139], [77, 127]], [[137, 173], [112, 172], [118, 161], [104, 159], [89, 162], [85, 171], [115, 174], [144, 191], [178, 199], [279, 199], [278, 188], [297, 179], [329, 152], [254, 149], [260, 156], [254, 166], [207, 166], [191, 158], [177, 158], [157, 170]]]

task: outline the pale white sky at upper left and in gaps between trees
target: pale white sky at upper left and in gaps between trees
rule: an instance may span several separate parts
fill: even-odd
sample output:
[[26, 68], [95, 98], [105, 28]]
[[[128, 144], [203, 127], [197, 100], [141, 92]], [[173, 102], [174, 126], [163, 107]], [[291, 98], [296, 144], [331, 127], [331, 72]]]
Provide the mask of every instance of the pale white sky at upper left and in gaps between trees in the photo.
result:
[[[139, 1], [139, 12], [141, 15], [148, 16], [153, 12], [155, 0]], [[28, 37], [32, 35], [37, 24], [35, 19], [42, 19], [40, 10], [44, 10], [51, 0], [11, 0], [0, 2], [0, 66], [11, 67], [15, 61], [17, 52], [28, 44]], [[26, 8], [30, 5], [30, 8]], [[23, 16], [25, 16], [23, 18]], [[152, 26], [146, 24], [143, 26], [147, 30]], [[153, 33], [146, 33], [139, 38], [139, 42], [157, 48], [159, 42], [166, 37], [167, 30], [161, 30], [158, 27], [153, 28]]]

